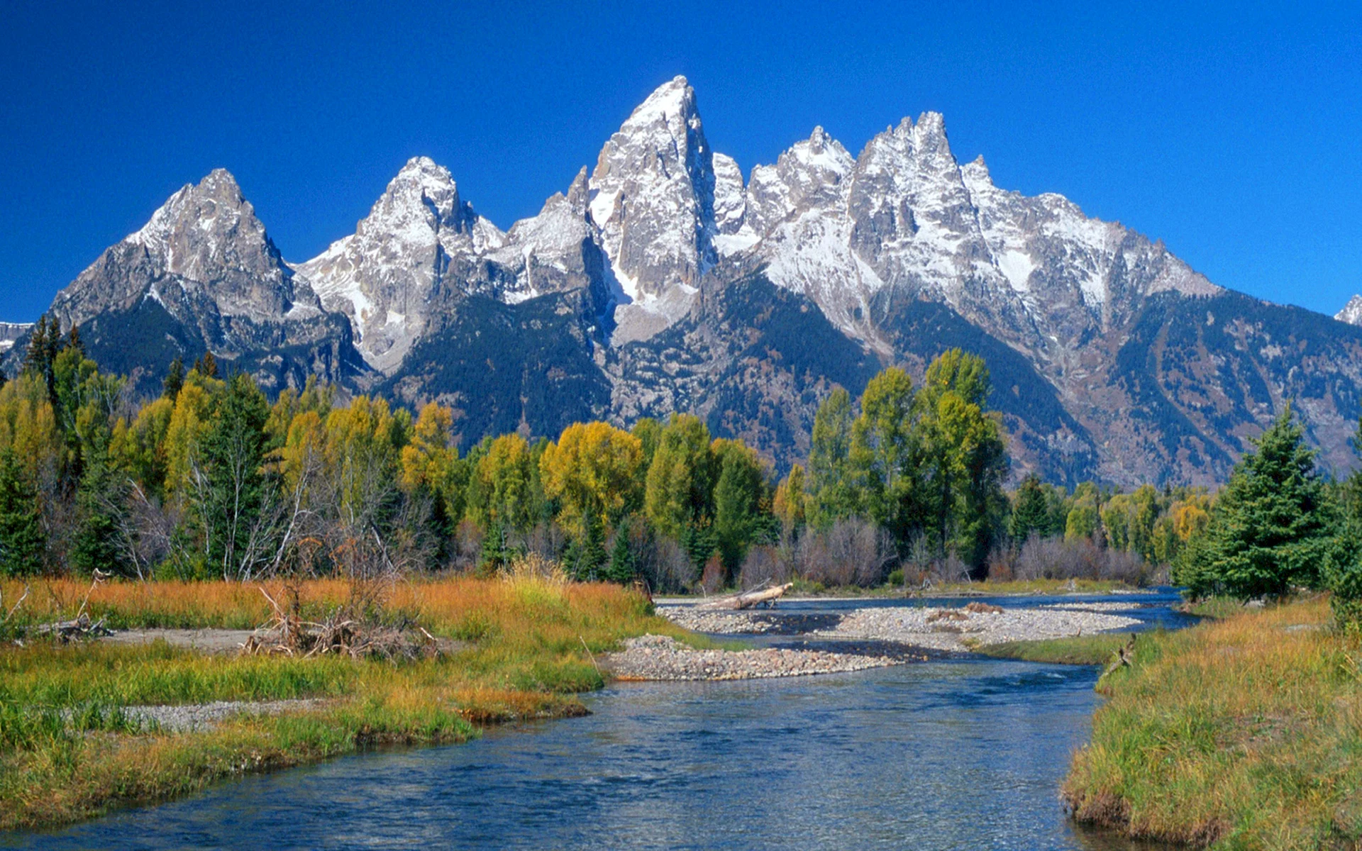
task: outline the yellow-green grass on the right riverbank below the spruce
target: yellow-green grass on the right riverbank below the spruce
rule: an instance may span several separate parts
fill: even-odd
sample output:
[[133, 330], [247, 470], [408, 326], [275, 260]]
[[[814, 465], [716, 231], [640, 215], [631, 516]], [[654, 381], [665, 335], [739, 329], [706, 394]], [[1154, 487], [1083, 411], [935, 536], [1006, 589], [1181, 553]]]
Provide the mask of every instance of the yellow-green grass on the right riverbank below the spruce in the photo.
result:
[[1362, 648], [1325, 599], [1141, 639], [1073, 757], [1080, 821], [1216, 848], [1362, 844]]

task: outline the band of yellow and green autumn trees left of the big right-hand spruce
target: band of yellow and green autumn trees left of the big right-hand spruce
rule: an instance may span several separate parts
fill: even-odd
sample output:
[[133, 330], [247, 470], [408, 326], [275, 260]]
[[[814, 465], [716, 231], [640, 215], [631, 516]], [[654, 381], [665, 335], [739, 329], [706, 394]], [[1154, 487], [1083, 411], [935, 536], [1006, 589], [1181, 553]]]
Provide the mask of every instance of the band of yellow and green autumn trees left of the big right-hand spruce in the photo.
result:
[[[1114, 579], [1203, 558], [1215, 497], [1022, 478], [986, 364], [938, 355], [834, 387], [776, 477], [691, 414], [573, 423], [460, 452], [459, 413], [309, 383], [266, 398], [211, 354], [135, 399], [39, 321], [0, 387], [0, 571], [132, 579], [496, 572], [522, 554], [654, 591]], [[1320, 482], [1320, 489], [1342, 486]], [[1321, 490], [1321, 493], [1323, 493]], [[1332, 492], [1331, 492], [1332, 493]], [[1336, 500], [1333, 500], [1336, 501]], [[1190, 554], [1189, 554], [1190, 553]], [[1192, 564], [1192, 562], [1188, 562]], [[1190, 576], [1192, 568], [1181, 568]]]

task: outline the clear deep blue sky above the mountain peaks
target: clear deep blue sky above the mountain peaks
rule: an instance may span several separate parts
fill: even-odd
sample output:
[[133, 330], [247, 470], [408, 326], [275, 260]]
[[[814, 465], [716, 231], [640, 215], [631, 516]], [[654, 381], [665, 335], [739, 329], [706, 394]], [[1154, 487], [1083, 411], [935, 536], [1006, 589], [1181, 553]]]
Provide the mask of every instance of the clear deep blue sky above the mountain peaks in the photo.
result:
[[676, 74], [744, 172], [945, 114], [962, 162], [1332, 313], [1362, 290], [1362, 4], [71, 4], [0, 15], [0, 319], [33, 320], [180, 185], [230, 169], [285, 257], [413, 155], [497, 225]]

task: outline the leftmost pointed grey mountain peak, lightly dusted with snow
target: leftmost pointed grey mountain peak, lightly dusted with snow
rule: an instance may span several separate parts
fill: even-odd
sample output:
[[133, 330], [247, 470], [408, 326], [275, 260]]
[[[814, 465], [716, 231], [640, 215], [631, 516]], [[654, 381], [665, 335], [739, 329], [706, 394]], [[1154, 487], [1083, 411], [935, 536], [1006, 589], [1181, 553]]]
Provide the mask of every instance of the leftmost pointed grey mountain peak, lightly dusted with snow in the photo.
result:
[[[172, 195], [57, 293], [50, 312], [63, 328], [79, 325], [90, 355], [143, 392], [159, 391], [174, 357], [204, 351], [270, 389], [309, 374], [350, 381], [362, 368], [350, 323], [283, 263], [223, 169]], [[20, 349], [5, 358], [11, 373]]]

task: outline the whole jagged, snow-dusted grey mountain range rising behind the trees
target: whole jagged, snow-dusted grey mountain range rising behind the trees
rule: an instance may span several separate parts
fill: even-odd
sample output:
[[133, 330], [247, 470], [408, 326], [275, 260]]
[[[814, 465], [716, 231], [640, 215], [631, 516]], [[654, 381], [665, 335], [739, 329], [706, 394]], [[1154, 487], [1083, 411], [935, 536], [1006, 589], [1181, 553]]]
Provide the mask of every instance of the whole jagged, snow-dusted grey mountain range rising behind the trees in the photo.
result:
[[1362, 297], [1335, 321], [1224, 290], [1060, 195], [996, 187], [936, 113], [857, 155], [814, 128], [744, 180], [684, 78], [507, 231], [415, 158], [290, 266], [214, 172], [53, 309], [147, 381], [212, 350], [275, 387], [441, 400], [464, 445], [689, 410], [785, 464], [834, 384], [955, 346], [987, 359], [1017, 470], [1058, 482], [1223, 481], [1288, 400], [1346, 467], [1362, 413]]

